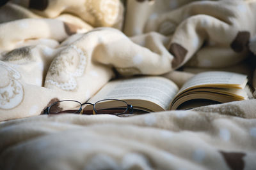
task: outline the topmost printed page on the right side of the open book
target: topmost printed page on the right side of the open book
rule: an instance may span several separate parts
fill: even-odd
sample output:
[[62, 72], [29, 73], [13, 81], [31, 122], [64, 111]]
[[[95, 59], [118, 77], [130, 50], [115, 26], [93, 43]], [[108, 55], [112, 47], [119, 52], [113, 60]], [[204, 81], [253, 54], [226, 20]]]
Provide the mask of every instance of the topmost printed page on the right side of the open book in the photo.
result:
[[[211, 86], [218, 87], [236, 87], [243, 89], [246, 85], [247, 78], [244, 74], [231, 73], [225, 71], [208, 71], [204, 73], [199, 73], [189, 79], [180, 89], [180, 92], [190, 89], [191, 87], [202, 87]], [[216, 86], [215, 86], [216, 85]]]

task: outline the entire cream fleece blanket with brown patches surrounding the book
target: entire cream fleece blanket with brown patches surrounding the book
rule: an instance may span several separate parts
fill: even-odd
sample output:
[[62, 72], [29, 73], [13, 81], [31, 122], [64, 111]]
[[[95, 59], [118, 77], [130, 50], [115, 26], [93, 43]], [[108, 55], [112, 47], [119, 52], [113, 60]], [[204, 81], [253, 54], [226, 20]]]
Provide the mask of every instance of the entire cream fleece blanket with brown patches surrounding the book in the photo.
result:
[[0, 7], [0, 169], [255, 169], [256, 100], [189, 111], [40, 115], [116, 76], [248, 74], [256, 1], [9, 1]]

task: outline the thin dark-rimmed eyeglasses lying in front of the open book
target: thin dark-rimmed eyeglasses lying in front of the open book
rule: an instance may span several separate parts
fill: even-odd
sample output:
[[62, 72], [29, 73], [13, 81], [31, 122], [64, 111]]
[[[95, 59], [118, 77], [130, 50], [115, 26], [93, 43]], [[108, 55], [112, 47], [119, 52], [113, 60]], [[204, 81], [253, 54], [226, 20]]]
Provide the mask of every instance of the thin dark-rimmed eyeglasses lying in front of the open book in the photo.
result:
[[111, 114], [123, 115], [133, 113], [133, 107], [118, 99], [104, 99], [96, 103], [80, 103], [79, 101], [64, 100], [52, 103], [44, 110], [44, 114], [56, 115], [60, 113], [77, 113], [86, 115]]

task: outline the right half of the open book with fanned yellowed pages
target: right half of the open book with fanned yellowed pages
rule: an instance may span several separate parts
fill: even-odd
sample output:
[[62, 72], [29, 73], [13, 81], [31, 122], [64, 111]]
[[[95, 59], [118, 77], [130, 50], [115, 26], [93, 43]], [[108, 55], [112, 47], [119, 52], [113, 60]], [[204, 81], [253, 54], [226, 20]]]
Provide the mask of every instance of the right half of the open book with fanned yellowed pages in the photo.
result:
[[225, 71], [199, 73], [184, 83], [170, 108], [176, 109], [191, 99], [209, 99], [221, 103], [247, 99], [248, 96], [243, 90], [246, 83], [244, 74]]

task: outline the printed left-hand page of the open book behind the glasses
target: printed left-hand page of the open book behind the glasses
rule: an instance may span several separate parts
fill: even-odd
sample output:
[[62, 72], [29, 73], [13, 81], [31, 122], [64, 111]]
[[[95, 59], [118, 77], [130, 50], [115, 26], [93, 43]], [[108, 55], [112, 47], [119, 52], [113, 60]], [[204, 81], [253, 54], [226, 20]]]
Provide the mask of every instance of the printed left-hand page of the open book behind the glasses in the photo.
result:
[[151, 101], [166, 110], [178, 90], [175, 83], [161, 76], [128, 78], [109, 81], [90, 102], [95, 103], [102, 99], [137, 99]]

